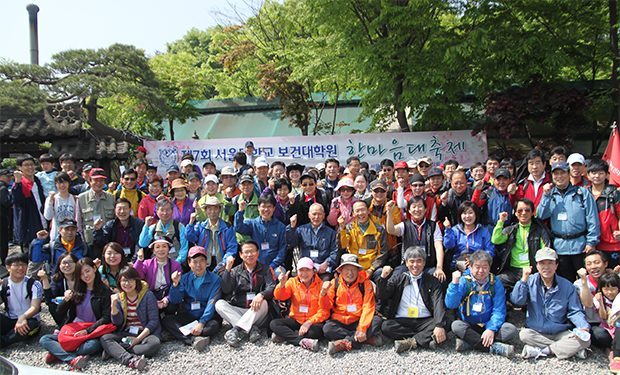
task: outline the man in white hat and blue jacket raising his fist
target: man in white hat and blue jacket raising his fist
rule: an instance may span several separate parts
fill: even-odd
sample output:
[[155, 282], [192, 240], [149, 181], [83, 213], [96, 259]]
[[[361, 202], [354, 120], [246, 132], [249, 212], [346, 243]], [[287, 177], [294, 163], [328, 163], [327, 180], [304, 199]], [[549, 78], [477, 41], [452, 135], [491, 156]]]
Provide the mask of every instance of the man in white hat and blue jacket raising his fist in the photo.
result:
[[195, 223], [198, 214], [192, 213], [186, 227], [186, 237], [189, 242], [205, 248], [208, 268], [217, 273], [224, 267], [228, 257], [237, 256], [237, 238], [235, 230], [220, 216], [222, 203], [216, 197], [200, 201], [207, 218]]

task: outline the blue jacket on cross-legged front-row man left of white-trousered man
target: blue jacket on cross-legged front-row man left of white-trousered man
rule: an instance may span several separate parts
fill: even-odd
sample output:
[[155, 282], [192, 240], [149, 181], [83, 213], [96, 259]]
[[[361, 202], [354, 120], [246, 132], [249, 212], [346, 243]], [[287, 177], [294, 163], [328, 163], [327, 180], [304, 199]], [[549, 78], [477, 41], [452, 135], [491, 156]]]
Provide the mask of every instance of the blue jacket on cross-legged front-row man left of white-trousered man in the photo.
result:
[[[185, 312], [193, 316], [200, 323], [206, 323], [215, 314], [215, 302], [222, 295], [222, 280], [213, 272], [205, 271], [200, 288], [194, 286], [196, 276], [193, 272], [188, 272], [181, 276], [179, 285], [170, 287], [168, 299], [170, 303], [183, 303]], [[192, 310], [192, 303], [199, 302], [200, 308]]]

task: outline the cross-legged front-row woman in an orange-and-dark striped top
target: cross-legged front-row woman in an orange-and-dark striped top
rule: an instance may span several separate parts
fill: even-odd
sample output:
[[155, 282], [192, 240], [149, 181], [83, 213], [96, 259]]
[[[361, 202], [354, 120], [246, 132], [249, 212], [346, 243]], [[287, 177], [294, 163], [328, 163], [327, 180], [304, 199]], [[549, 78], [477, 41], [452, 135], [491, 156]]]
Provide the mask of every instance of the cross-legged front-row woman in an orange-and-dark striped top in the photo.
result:
[[121, 292], [112, 295], [112, 323], [118, 331], [101, 338], [105, 353], [139, 371], [161, 347], [161, 325], [155, 296], [132, 267], [119, 273]]

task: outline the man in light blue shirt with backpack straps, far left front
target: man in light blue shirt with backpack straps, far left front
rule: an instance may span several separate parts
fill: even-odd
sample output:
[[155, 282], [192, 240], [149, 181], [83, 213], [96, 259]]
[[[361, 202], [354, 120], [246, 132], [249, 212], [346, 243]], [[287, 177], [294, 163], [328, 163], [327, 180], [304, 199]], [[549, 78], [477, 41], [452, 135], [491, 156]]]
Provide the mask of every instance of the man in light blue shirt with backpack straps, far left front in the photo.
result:
[[9, 277], [0, 285], [0, 348], [24, 341], [39, 333], [43, 287], [38, 280], [26, 276], [28, 254], [13, 253], [6, 257]]

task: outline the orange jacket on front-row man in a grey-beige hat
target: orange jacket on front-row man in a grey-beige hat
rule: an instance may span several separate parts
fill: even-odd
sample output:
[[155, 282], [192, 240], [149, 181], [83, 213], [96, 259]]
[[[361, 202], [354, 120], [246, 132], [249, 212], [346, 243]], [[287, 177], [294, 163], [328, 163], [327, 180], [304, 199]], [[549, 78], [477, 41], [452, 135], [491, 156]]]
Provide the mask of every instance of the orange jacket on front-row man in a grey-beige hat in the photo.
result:
[[[340, 277], [340, 276], [336, 276]], [[358, 284], [364, 284], [364, 295]], [[348, 306], [355, 306], [355, 311], [348, 311]], [[366, 332], [375, 316], [375, 292], [366, 272], [360, 270], [357, 280], [348, 286], [343, 279], [331, 281], [327, 295], [321, 299], [321, 306], [332, 311], [332, 319], [343, 324], [358, 322], [357, 330]]]

